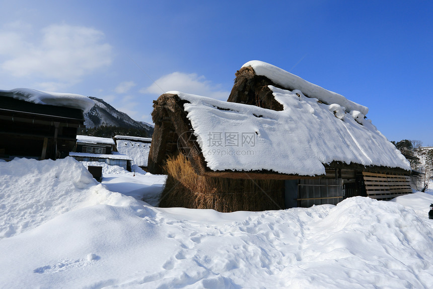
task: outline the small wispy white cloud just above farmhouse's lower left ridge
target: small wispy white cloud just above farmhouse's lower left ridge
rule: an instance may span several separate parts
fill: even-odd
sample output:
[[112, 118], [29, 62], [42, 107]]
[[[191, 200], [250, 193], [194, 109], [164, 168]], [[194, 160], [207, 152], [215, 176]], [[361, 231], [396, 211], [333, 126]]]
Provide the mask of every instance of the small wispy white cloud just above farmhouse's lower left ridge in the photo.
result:
[[165, 75], [156, 80], [151, 86], [142, 88], [140, 92], [163, 94], [170, 90], [178, 90], [221, 100], [227, 100], [230, 94], [230, 91], [223, 91], [218, 85], [212, 85], [204, 76], [182, 72], [173, 72]]

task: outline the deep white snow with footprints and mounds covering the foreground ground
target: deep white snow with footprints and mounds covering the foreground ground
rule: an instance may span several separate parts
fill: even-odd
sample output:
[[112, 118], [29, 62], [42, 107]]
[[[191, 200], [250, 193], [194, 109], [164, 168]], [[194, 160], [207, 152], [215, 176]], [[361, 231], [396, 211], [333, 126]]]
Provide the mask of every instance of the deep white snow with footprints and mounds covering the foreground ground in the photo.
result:
[[83, 164], [0, 162], [1, 288], [433, 287], [430, 194], [264, 212], [157, 208], [164, 176], [104, 166], [99, 184]]

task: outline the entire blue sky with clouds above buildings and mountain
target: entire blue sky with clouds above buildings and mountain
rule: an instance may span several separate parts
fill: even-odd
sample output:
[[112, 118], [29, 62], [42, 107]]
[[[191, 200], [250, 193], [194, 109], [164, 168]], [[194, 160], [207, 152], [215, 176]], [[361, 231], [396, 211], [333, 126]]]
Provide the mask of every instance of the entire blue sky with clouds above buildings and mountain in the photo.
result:
[[1, 1], [0, 10], [0, 89], [96, 96], [152, 122], [164, 91], [226, 100], [235, 72], [260, 60], [368, 106], [389, 140], [433, 145], [432, 1]]

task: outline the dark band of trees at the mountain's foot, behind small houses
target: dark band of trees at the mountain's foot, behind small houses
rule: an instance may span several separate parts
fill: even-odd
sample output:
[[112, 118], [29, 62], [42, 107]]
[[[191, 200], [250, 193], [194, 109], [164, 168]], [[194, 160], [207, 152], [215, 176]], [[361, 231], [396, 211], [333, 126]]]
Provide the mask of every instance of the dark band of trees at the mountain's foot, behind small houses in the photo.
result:
[[146, 129], [138, 128], [125, 128], [125, 127], [113, 127], [113, 126], [100, 126], [95, 128], [85, 128], [78, 132], [79, 135], [101, 137], [101, 138], [112, 138], [118, 136], [131, 136], [131, 137], [142, 137], [151, 138], [149, 131]]

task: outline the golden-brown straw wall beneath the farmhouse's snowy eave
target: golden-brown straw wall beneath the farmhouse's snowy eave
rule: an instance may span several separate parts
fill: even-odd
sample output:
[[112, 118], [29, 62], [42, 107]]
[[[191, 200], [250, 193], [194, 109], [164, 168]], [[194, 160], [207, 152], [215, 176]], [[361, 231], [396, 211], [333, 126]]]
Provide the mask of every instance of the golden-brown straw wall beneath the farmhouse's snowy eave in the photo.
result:
[[284, 208], [284, 181], [199, 176], [183, 154], [169, 158], [161, 207], [214, 209], [220, 212]]

